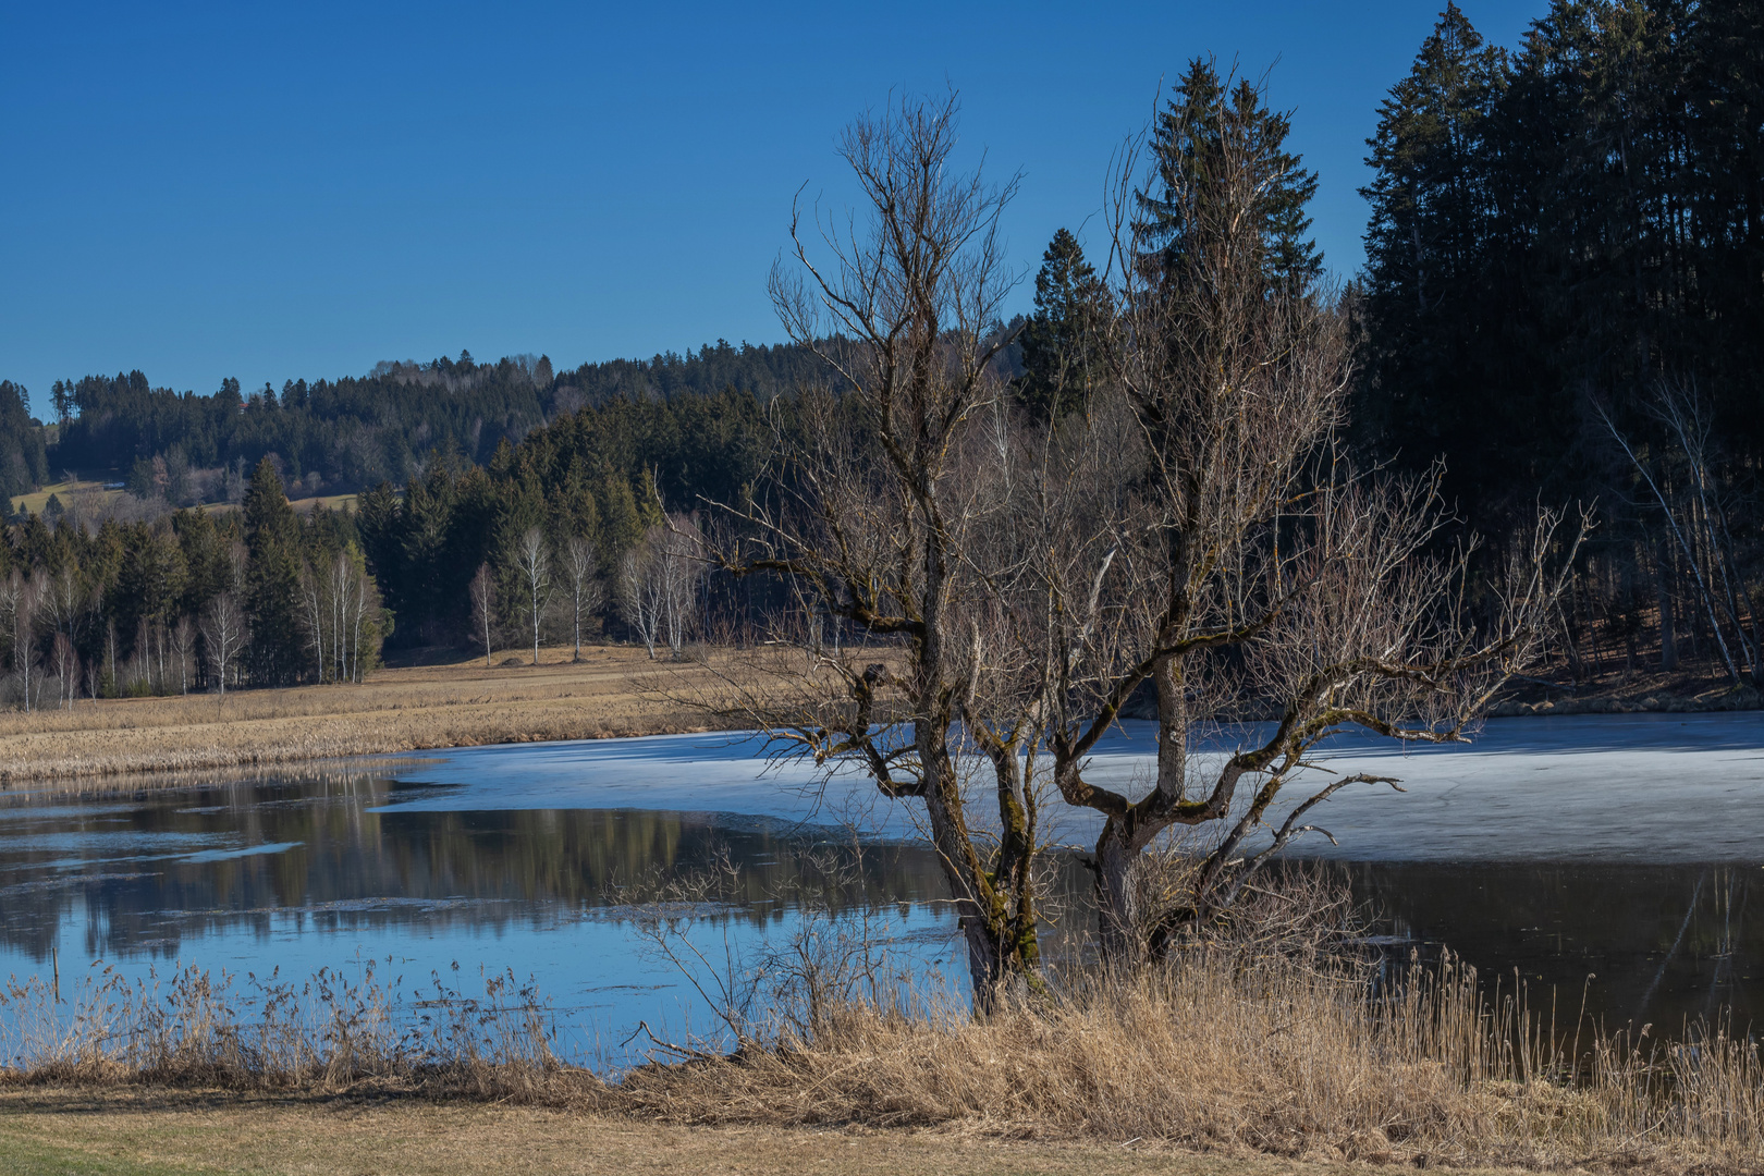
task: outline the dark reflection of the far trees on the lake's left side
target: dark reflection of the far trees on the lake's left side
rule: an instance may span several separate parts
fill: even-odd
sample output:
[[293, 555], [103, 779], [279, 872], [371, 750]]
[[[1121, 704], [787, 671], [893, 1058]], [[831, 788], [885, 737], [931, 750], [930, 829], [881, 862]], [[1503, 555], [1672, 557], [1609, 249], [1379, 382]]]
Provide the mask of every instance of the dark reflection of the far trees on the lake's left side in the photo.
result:
[[[833, 901], [944, 896], [917, 846], [856, 853], [836, 830], [626, 809], [425, 811], [425, 785], [307, 774], [93, 804], [0, 809], [0, 945], [44, 961], [69, 920], [90, 956], [173, 957], [185, 940], [293, 919], [321, 929], [543, 926], [630, 903], [660, 876], [739, 864], [736, 906], [778, 917], [817, 855], [861, 885]], [[905, 912], [903, 912], [905, 913]]]

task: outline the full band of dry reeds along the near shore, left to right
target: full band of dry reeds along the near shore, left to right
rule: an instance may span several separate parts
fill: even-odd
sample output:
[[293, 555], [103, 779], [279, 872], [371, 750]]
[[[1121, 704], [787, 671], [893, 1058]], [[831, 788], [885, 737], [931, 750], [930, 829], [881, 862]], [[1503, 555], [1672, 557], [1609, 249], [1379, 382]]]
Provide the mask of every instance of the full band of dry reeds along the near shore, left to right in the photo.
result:
[[[1416, 1165], [1764, 1171], [1755, 1044], [1552, 1038], [1473, 977], [1374, 998], [1341, 968], [1203, 956], [974, 1019], [843, 1005], [808, 1035], [603, 1081], [552, 1051], [512, 979], [436, 993], [418, 1021], [372, 975], [243, 994], [205, 973], [0, 998], [4, 1083], [407, 1091], [700, 1125], [863, 1125], [1159, 1141]], [[249, 1009], [247, 1014], [238, 1012]], [[1554, 1040], [1554, 1044], [1551, 1044]], [[1642, 1042], [1648, 1046], [1648, 1042]]]

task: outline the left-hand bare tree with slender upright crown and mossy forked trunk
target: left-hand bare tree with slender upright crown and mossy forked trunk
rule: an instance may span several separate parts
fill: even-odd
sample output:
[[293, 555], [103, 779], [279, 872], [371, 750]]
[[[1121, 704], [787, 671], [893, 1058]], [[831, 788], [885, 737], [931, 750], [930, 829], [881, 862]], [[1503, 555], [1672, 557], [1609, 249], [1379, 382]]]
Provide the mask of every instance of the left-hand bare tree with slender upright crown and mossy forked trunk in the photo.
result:
[[1034, 984], [1039, 959], [1032, 778], [1044, 696], [1016, 658], [1023, 642], [998, 636], [1014, 624], [1011, 589], [974, 555], [1009, 538], [993, 525], [1011, 483], [990, 448], [990, 409], [1004, 391], [993, 360], [1009, 342], [991, 323], [1016, 280], [998, 217], [1016, 183], [956, 167], [953, 95], [859, 118], [840, 146], [864, 220], [810, 233], [799, 210], [796, 264], [773, 272], [771, 291], [790, 337], [848, 391], [801, 397], [799, 441], [780, 430], [766, 492], [730, 508], [744, 536], [713, 559], [780, 577], [799, 598], [794, 615], [840, 617], [886, 649], [817, 651], [780, 626], [774, 640], [808, 656], [755, 651], [755, 677], [732, 686], [780, 753], [854, 767], [882, 797], [914, 802], [986, 1005], [1002, 986]]

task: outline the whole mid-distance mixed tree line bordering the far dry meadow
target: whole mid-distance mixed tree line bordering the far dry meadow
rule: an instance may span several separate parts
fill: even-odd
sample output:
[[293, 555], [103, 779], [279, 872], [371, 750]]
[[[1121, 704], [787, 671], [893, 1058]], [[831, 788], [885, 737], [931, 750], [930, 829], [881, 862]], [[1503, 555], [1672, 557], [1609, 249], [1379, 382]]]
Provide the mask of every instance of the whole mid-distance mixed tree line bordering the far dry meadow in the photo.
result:
[[729, 633], [764, 589], [706, 575], [693, 534], [751, 492], [794, 395], [628, 398], [563, 413], [483, 464], [452, 435], [404, 485], [303, 515], [275, 457], [229, 504], [102, 522], [19, 513], [0, 545], [5, 696], [351, 682], [404, 647], [573, 642], [660, 656]]

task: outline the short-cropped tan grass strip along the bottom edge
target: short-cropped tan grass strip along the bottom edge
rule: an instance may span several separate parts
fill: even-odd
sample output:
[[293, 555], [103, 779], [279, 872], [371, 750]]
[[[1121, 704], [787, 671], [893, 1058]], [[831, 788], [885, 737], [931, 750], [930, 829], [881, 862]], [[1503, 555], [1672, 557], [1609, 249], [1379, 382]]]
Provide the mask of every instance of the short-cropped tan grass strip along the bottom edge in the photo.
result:
[[670, 1127], [513, 1105], [259, 1098], [226, 1091], [0, 1090], [0, 1176], [1298, 1176], [1325, 1171], [1332, 1169], [1272, 1158], [1189, 1155], [1143, 1144], [1009, 1143], [954, 1132]]

